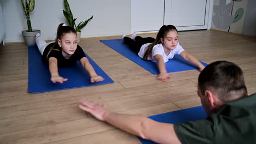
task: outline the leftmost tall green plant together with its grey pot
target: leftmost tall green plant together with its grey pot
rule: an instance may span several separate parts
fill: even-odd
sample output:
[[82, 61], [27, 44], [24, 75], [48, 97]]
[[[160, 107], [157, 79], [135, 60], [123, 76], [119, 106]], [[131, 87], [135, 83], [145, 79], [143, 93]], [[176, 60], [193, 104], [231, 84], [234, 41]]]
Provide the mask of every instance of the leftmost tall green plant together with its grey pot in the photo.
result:
[[32, 30], [31, 22], [30, 22], [30, 12], [34, 9], [34, 0], [28, 0], [28, 2], [26, 0], [25, 4], [24, 4], [24, 0], [21, 0], [21, 3], [24, 10], [24, 14], [26, 15], [26, 19], [27, 19], [27, 30], [22, 31], [22, 35], [24, 36], [27, 45], [34, 45], [35, 44], [34, 37], [36, 37], [37, 33], [40, 33], [39, 29]]

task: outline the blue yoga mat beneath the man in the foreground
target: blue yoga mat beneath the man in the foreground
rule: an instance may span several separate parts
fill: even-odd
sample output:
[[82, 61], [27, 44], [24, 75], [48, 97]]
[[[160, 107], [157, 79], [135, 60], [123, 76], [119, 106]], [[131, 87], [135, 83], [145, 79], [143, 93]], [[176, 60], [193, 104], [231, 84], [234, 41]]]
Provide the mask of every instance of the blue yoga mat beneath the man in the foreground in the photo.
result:
[[[207, 114], [202, 106], [191, 107], [189, 109], [178, 110], [173, 112], [162, 113], [160, 115], [150, 116], [150, 119], [162, 123], [179, 124], [189, 121], [196, 121], [199, 119], [205, 119]], [[142, 139], [138, 137], [143, 144], [155, 144], [156, 142]]]

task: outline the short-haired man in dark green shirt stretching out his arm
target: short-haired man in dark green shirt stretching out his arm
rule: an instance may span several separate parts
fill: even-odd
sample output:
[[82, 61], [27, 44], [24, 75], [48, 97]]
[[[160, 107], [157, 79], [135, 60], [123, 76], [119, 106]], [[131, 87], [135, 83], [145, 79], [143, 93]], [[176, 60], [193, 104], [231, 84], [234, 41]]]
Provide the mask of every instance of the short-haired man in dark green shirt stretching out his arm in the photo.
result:
[[110, 112], [103, 105], [81, 100], [80, 109], [101, 121], [158, 143], [256, 143], [256, 93], [247, 96], [242, 70], [218, 61], [203, 69], [197, 94], [209, 117], [182, 124]]

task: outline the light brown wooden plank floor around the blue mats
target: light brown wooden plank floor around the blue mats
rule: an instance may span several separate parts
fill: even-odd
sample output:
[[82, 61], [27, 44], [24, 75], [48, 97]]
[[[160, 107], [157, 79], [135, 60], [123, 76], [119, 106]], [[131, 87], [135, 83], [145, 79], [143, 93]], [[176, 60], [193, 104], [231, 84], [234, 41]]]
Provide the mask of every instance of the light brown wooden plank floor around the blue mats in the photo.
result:
[[[1, 44], [0, 143], [141, 143], [136, 136], [79, 110], [82, 98], [106, 104], [115, 112], [141, 116], [201, 105], [196, 94], [199, 71], [171, 73], [170, 80], [160, 82], [99, 41], [119, 38], [82, 39], [79, 43], [114, 83], [45, 93], [27, 93], [27, 46]], [[179, 43], [202, 62], [236, 63], [245, 74], [248, 93], [256, 92], [255, 38], [212, 30], [190, 31], [179, 32]]]

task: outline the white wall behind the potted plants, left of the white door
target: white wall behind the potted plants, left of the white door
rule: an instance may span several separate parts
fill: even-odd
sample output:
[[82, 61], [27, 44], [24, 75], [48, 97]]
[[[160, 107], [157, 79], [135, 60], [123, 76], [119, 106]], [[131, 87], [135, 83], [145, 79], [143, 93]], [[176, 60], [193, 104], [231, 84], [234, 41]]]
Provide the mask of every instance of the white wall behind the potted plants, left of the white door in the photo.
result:
[[[27, 29], [25, 14], [20, 0], [0, 0], [2, 3], [5, 42], [24, 41], [21, 31]], [[131, 2], [130, 0], [68, 0], [77, 24], [94, 15], [81, 37], [101, 37], [121, 35], [131, 32]], [[63, 0], [36, 0], [31, 12], [32, 29], [40, 29], [45, 40], [55, 39], [59, 23], [67, 23], [63, 16]]]

